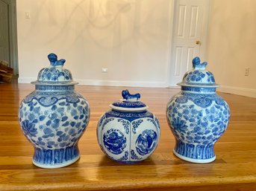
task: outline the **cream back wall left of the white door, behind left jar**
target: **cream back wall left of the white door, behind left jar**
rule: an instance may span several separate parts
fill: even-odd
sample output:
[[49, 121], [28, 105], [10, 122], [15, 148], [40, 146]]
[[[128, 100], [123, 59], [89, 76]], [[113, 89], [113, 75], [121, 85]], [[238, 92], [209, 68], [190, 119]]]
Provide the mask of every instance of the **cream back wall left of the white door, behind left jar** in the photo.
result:
[[36, 80], [54, 52], [66, 59], [65, 68], [80, 84], [166, 87], [172, 3], [17, 1], [19, 82]]

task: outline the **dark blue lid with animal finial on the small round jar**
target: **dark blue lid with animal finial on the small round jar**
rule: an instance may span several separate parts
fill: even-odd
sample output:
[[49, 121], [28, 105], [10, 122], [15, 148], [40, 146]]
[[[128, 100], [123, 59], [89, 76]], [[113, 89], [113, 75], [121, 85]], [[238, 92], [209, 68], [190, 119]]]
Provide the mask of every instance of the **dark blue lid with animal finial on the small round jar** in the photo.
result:
[[111, 109], [118, 111], [145, 111], [149, 109], [140, 101], [140, 94], [130, 94], [127, 89], [122, 91], [122, 100], [110, 104]]

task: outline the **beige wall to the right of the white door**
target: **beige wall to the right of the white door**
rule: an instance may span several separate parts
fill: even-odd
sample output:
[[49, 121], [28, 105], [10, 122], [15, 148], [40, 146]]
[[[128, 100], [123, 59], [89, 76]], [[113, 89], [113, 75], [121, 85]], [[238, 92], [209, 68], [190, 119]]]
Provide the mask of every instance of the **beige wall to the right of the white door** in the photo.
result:
[[220, 91], [256, 97], [255, 35], [255, 0], [212, 0], [207, 61]]

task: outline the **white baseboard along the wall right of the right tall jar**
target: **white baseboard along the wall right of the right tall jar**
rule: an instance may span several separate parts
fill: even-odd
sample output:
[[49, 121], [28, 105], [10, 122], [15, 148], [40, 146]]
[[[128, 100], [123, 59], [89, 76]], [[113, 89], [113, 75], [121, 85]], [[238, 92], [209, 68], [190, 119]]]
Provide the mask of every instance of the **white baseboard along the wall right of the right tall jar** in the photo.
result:
[[217, 88], [217, 91], [256, 98], [256, 89], [251, 89], [251, 88], [239, 88], [239, 87], [221, 85], [219, 88]]

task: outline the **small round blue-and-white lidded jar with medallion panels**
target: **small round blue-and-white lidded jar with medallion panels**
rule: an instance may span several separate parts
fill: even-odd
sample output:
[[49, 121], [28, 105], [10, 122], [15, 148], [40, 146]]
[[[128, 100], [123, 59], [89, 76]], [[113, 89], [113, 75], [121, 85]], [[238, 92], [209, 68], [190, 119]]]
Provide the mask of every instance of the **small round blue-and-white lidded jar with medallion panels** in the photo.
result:
[[100, 117], [98, 143], [113, 161], [132, 164], [143, 161], [156, 149], [160, 138], [157, 117], [140, 101], [140, 94], [122, 91], [122, 100], [110, 105]]

